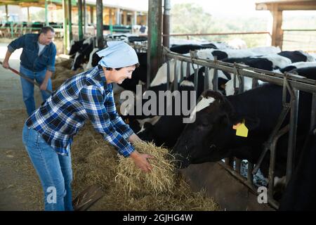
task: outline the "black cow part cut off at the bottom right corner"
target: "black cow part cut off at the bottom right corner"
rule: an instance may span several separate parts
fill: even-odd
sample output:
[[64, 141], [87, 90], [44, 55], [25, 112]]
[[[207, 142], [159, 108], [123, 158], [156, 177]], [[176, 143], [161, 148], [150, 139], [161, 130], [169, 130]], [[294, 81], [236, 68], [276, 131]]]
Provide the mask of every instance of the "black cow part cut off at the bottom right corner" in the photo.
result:
[[316, 127], [302, 148], [301, 159], [284, 191], [279, 210], [316, 210]]

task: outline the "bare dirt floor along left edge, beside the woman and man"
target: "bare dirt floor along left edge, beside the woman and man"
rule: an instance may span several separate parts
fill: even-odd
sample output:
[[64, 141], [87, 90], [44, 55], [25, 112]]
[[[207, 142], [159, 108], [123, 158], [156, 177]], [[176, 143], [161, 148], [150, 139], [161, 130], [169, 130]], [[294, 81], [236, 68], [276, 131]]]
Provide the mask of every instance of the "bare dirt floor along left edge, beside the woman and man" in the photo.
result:
[[[7, 39], [0, 39], [0, 60], [6, 54]], [[17, 50], [9, 61], [19, 70]], [[39, 89], [34, 89], [37, 106]], [[27, 118], [22, 101], [20, 77], [0, 66], [0, 210], [41, 210], [34, 195], [41, 195], [41, 186], [22, 144], [22, 127]]]

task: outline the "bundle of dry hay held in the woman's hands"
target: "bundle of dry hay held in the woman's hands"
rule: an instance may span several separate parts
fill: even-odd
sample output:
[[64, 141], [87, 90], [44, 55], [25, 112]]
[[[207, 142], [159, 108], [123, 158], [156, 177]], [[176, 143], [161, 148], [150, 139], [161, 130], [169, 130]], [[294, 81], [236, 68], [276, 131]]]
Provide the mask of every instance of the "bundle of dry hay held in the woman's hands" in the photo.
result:
[[143, 141], [135, 143], [134, 146], [139, 153], [147, 153], [154, 157], [149, 159], [152, 171], [145, 173], [136, 167], [131, 158], [119, 156], [115, 181], [123, 186], [128, 193], [132, 191], [147, 191], [156, 194], [173, 193], [176, 169], [168, 150]]

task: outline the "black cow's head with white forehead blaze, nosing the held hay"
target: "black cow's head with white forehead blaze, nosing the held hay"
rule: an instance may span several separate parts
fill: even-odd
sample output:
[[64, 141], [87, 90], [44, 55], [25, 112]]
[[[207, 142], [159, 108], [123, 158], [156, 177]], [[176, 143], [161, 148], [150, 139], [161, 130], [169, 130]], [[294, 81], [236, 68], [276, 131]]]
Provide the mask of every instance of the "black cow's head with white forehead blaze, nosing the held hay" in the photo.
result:
[[204, 91], [195, 109], [195, 122], [186, 125], [172, 150], [180, 168], [230, 156], [232, 143], [246, 139], [236, 136], [234, 124], [245, 122], [249, 131], [258, 127], [257, 118], [235, 113], [228, 99], [216, 91]]

